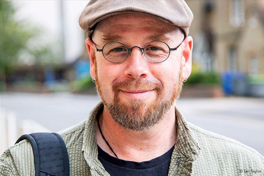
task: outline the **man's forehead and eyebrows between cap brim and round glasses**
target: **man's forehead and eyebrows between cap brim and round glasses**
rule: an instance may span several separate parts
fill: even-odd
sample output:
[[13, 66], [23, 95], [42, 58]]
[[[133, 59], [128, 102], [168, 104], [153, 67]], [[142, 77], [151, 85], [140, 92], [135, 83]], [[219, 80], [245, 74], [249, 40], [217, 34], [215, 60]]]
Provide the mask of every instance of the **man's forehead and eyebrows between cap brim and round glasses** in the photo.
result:
[[133, 36], [133, 39], [144, 37], [149, 40], [166, 41], [180, 33], [179, 31], [179, 27], [147, 14], [123, 13], [100, 21], [94, 30], [93, 38], [96, 36], [102, 42], [104, 40], [107, 42], [126, 40]]

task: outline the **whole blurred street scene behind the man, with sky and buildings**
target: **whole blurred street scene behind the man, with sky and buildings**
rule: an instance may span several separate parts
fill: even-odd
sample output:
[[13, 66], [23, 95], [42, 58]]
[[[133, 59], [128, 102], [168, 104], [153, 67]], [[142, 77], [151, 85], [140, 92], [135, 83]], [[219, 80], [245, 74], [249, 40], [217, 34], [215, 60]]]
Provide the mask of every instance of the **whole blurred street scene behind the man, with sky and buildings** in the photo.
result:
[[[185, 118], [264, 155], [264, 1], [186, 0], [193, 71]], [[89, 74], [88, 1], [0, 1], [0, 153], [24, 133], [59, 131], [100, 101]]]

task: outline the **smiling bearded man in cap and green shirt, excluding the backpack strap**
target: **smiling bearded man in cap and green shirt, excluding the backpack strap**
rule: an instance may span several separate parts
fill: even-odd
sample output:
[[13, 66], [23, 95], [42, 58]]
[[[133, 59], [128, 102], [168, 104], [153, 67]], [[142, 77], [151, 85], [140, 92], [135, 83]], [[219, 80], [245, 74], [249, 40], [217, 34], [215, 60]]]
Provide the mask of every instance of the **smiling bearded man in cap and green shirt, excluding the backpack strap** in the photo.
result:
[[[60, 132], [70, 175], [263, 175], [262, 155], [185, 122], [175, 107], [191, 73], [192, 19], [184, 1], [88, 3], [79, 23], [102, 102]], [[32, 160], [23, 140], [2, 155], [0, 173], [34, 175]]]

